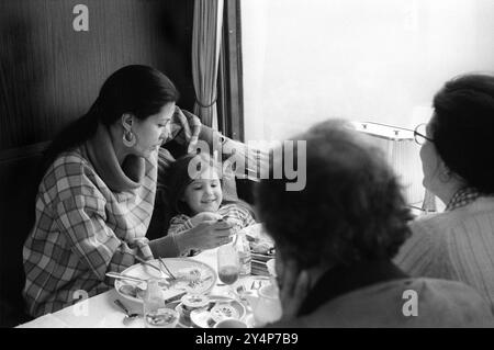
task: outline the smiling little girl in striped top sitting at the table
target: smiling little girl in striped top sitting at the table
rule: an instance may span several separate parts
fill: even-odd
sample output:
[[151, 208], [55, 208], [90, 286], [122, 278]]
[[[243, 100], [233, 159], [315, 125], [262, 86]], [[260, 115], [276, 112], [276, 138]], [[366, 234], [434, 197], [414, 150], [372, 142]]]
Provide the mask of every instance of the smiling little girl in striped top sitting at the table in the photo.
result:
[[[177, 159], [169, 169], [167, 190], [175, 216], [168, 235], [190, 229], [205, 221], [224, 219], [233, 232], [256, 224], [249, 205], [239, 200], [226, 200], [218, 165], [204, 154], [189, 154]], [[194, 255], [188, 250], [182, 255]]]

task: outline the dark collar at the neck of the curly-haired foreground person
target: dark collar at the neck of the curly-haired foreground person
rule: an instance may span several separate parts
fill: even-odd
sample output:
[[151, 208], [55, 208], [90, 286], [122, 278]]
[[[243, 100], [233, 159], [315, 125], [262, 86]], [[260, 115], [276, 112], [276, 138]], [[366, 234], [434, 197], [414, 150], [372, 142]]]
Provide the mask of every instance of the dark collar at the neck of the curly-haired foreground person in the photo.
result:
[[318, 306], [348, 292], [391, 280], [408, 278], [390, 260], [361, 261], [338, 266], [321, 276], [302, 303], [299, 316], [314, 312]]

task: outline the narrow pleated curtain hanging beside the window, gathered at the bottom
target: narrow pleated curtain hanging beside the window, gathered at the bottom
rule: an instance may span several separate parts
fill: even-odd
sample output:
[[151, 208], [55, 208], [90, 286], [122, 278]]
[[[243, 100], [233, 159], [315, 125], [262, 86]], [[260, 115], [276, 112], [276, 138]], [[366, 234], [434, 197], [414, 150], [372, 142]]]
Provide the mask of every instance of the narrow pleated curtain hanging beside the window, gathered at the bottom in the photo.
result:
[[222, 42], [223, 1], [195, 0], [194, 3], [192, 30], [194, 114], [207, 126], [217, 123], [216, 78]]

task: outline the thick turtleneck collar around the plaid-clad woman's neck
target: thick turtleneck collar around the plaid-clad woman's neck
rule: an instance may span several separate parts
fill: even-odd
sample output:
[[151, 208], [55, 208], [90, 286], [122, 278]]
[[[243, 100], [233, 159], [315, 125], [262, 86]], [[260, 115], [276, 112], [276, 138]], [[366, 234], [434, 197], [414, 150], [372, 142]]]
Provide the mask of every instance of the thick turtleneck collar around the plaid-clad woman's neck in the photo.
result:
[[85, 146], [89, 161], [110, 190], [124, 192], [141, 187], [145, 173], [145, 159], [128, 155], [121, 166], [106, 126], [99, 124], [97, 132]]

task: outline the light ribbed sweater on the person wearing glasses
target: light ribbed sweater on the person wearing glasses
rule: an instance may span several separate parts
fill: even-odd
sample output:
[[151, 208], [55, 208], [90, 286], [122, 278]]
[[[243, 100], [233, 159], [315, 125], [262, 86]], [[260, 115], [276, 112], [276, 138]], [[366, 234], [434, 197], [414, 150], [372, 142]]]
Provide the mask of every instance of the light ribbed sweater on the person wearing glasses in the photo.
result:
[[461, 281], [494, 308], [494, 197], [412, 222], [394, 262], [413, 276]]

